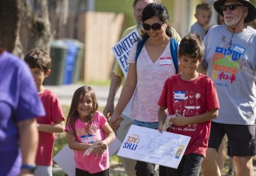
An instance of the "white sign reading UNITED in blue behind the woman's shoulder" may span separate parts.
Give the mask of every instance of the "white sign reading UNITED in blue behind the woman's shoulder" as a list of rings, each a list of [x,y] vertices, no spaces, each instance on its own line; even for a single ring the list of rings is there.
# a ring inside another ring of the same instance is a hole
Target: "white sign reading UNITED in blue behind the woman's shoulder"
[[[130,47],[141,39],[140,34],[138,34],[138,30],[134,29],[126,37],[122,38],[115,46],[112,47],[115,58],[118,60],[119,66],[122,69],[122,72],[125,76],[128,73],[128,54],[130,51]]]

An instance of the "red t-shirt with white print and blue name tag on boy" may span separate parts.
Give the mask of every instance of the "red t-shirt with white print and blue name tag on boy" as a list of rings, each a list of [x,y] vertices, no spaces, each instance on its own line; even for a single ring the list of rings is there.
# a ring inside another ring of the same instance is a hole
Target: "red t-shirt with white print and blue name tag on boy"
[[[158,105],[167,107],[169,114],[175,114],[178,111],[179,114],[188,118],[219,108],[214,82],[203,74],[199,74],[193,81],[182,80],[181,74],[175,74],[166,79]],[[172,125],[169,131],[191,137],[184,155],[206,156],[210,121],[186,126]]]

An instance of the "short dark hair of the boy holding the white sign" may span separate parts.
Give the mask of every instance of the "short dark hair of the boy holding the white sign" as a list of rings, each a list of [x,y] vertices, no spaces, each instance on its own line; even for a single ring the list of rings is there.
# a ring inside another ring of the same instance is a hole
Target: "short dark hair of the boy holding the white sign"
[[[205,52],[205,46],[198,34],[187,34],[178,46],[178,56],[189,58],[198,58],[202,61]]]

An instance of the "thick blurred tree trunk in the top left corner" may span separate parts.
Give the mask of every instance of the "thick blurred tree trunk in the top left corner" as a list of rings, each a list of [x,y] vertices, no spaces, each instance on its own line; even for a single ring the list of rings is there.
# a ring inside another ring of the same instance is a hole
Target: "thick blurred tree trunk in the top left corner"
[[[68,0],[50,0],[50,2],[55,2],[58,11],[67,9]],[[34,47],[50,51],[52,33],[47,0],[2,0],[0,22],[0,46],[7,51],[21,58]]]

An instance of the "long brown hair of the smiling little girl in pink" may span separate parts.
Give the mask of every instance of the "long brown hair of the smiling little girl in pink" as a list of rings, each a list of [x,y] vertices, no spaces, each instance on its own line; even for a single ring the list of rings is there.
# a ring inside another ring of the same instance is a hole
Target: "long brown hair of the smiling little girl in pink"
[[[97,102],[96,94],[94,93],[94,90],[90,86],[81,86],[77,90],[75,90],[73,98],[72,98],[71,106],[70,106],[70,112],[67,115],[66,126],[68,127],[68,129],[72,130],[72,135],[74,135],[76,140],[78,139],[78,136],[76,134],[74,124],[77,121],[78,115],[79,115],[78,110],[77,110],[78,103],[81,99],[81,96],[83,98],[83,96],[86,93],[90,94],[90,96],[92,98],[92,103],[93,103],[93,109],[89,115],[90,120],[92,120],[94,118],[94,114],[95,114],[96,110],[98,110],[98,102]]]

